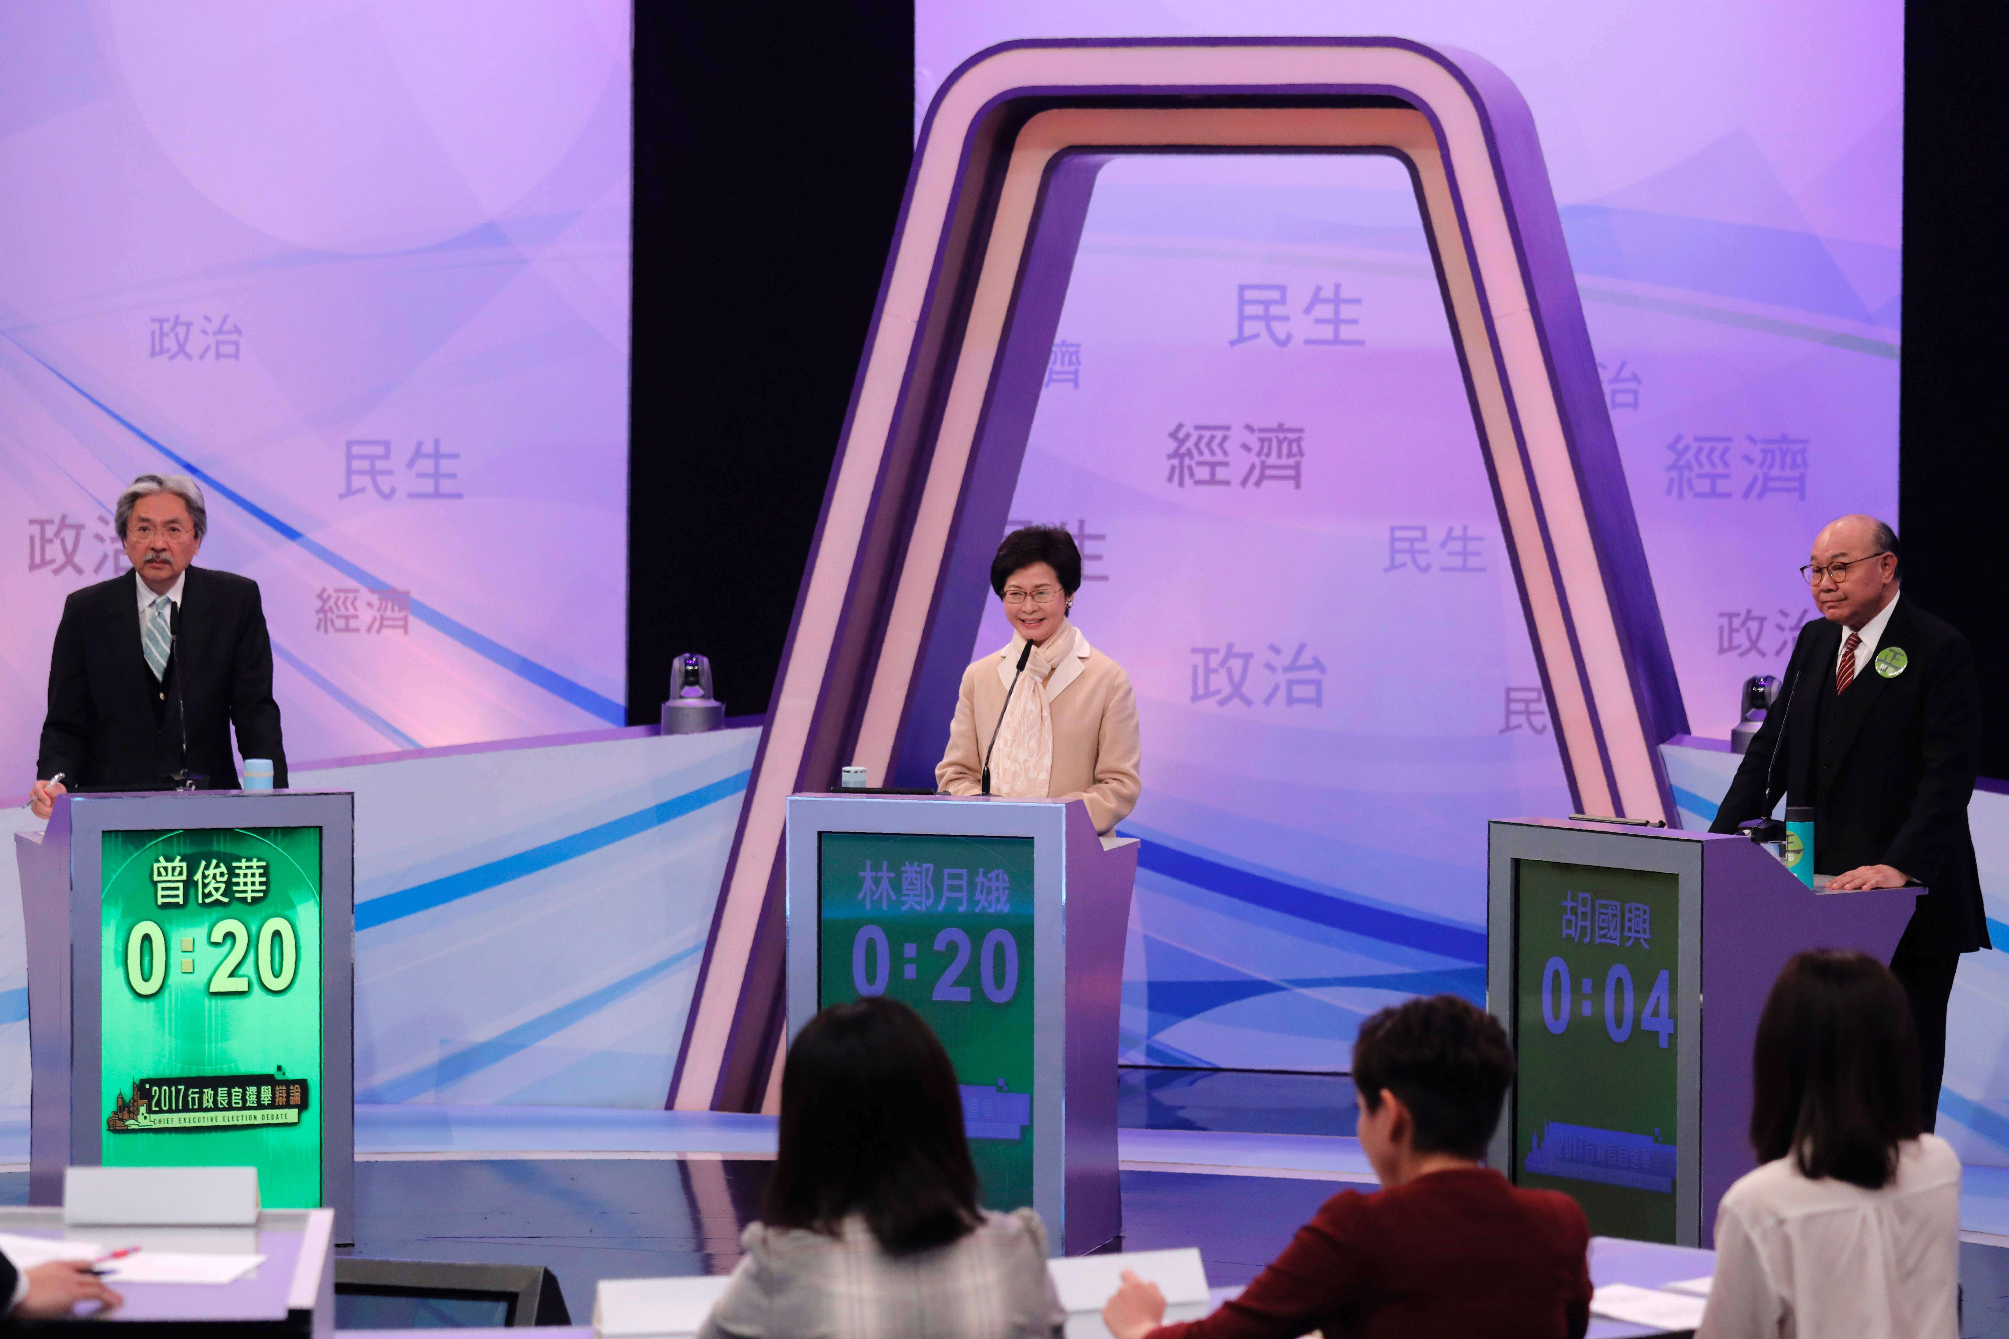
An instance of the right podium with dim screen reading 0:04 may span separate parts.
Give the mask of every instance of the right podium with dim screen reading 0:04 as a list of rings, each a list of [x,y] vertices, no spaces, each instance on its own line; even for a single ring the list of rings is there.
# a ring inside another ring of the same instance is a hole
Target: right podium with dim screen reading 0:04
[[[1708,1247],[1752,1170],[1752,1044],[1786,960],[1888,962],[1921,887],[1816,891],[1742,835],[1551,819],[1487,833],[1487,1008],[1519,1074],[1489,1162],[1599,1237]]]

